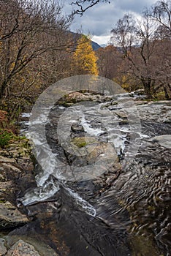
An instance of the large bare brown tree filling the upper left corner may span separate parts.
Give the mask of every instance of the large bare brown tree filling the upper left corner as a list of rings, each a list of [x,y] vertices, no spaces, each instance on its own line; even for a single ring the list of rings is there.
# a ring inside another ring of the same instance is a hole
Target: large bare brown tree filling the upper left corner
[[[0,17],[2,98],[29,63],[48,51],[69,48],[64,35],[70,19],[61,14],[60,4],[47,0],[1,1]]]

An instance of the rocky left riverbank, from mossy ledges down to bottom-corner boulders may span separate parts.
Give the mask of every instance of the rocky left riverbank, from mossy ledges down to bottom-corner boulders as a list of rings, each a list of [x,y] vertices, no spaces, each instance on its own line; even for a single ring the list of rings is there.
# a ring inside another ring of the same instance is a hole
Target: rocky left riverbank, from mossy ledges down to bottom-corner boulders
[[[0,255],[57,256],[47,244],[26,237],[10,236],[12,230],[33,220],[18,208],[17,197],[35,187],[34,157],[28,139],[10,140],[0,150]]]

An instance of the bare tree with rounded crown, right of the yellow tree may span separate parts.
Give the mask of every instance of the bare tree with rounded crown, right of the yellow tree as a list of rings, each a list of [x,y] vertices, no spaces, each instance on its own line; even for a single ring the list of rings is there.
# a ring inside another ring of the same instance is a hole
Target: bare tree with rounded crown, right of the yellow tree
[[[113,44],[123,52],[128,60],[128,73],[139,79],[148,97],[153,94],[155,74],[153,69],[153,51],[156,43],[153,22],[147,15],[137,20],[132,15],[124,15],[112,30]]]

